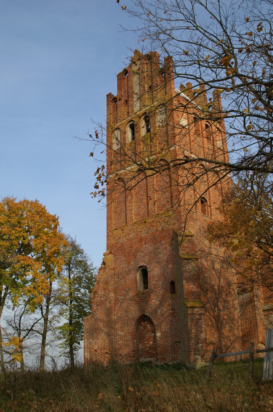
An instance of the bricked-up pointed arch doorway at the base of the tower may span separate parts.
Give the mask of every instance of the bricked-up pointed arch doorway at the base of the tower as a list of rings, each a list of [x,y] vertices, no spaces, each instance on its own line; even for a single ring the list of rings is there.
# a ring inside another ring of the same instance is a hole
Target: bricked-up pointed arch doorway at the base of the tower
[[[147,315],[142,315],[136,325],[136,349],[141,362],[156,362],[156,330]]]

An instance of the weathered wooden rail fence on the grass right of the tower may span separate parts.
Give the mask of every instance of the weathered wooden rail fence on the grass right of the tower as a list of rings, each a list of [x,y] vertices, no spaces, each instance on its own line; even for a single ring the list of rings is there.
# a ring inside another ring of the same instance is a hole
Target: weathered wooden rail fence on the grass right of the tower
[[[249,364],[248,364],[248,374],[250,377],[253,376],[253,361],[255,353],[265,353],[264,356],[264,369],[263,369],[263,379],[273,379],[273,329],[266,329],[266,345],[265,349],[257,349],[254,351],[254,343],[249,342],[249,349],[245,351],[229,352],[229,353],[219,353],[217,355],[217,348],[213,348],[211,359],[209,361],[209,367],[206,372],[206,377],[211,376],[213,363],[216,358],[224,358],[226,356],[238,356],[249,353]]]

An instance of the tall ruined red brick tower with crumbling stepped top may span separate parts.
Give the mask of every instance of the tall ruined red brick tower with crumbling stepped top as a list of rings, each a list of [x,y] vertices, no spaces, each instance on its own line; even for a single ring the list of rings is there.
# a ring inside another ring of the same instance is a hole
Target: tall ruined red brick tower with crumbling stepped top
[[[220,352],[247,347],[250,338],[264,342],[261,294],[238,291],[223,250],[205,239],[211,218],[221,218],[230,179],[213,185],[204,173],[195,182],[193,168],[169,167],[187,156],[227,161],[223,118],[209,124],[201,115],[220,105],[216,91],[208,103],[189,83],[175,89],[171,59],[161,66],[155,52],[136,50],[117,75],[117,96],[107,95],[107,252],[84,319],[85,364],[198,365],[213,346]],[[154,173],[159,164],[162,173]]]

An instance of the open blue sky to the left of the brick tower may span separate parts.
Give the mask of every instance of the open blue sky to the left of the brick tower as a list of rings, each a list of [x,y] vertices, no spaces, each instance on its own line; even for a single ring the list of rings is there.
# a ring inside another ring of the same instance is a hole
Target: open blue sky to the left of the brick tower
[[[126,3],[124,1],[124,3]],[[38,199],[77,235],[95,266],[106,248],[106,212],[91,199],[86,137],[106,119],[106,94],[137,38],[116,0],[2,0],[0,197]]]

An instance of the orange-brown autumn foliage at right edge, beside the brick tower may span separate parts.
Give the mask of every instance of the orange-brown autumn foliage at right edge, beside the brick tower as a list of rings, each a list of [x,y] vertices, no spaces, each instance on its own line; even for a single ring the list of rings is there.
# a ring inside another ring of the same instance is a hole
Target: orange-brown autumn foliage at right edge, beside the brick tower
[[[273,291],[273,203],[268,176],[241,176],[226,193],[224,220],[211,222],[210,241],[227,250],[227,259],[240,277]]]

